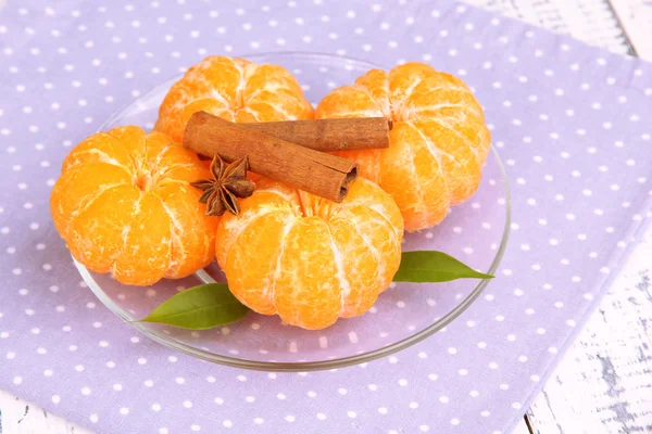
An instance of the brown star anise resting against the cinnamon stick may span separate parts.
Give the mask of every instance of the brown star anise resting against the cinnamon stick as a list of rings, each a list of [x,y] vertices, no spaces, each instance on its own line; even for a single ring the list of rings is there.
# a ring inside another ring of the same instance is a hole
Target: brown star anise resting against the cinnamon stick
[[[255,189],[255,184],[247,179],[247,156],[227,165],[215,154],[211,163],[213,179],[200,179],[190,183],[203,191],[199,202],[206,204],[206,216],[221,216],[226,210],[235,215],[240,214],[238,197],[249,197]]]

